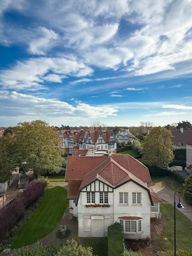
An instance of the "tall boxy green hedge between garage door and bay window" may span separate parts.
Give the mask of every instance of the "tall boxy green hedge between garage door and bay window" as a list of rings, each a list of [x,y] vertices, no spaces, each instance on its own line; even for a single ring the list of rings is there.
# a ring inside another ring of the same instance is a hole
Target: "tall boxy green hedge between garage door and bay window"
[[[108,227],[108,255],[117,256],[121,255],[123,251],[123,233],[119,223],[112,224]]]

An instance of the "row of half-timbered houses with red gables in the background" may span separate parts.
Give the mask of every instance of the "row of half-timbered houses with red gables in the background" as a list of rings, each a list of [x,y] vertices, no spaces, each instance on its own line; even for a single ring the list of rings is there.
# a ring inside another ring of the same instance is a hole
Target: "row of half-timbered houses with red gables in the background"
[[[61,130],[61,147],[68,153],[73,149],[110,150],[116,152],[117,140],[112,131],[102,131],[100,128],[94,131],[85,130]]]

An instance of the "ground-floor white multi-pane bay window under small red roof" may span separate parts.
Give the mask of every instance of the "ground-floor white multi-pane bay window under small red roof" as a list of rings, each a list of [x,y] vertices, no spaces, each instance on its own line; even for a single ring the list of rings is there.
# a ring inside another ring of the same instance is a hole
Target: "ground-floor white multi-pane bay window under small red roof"
[[[122,231],[126,233],[138,233],[142,231],[141,219],[135,221],[128,221],[120,219]]]

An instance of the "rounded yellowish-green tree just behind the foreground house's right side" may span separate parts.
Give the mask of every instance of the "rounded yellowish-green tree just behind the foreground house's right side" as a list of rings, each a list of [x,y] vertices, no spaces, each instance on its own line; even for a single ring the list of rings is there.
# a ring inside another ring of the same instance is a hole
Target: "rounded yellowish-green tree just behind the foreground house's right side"
[[[143,143],[145,164],[167,168],[169,162],[174,159],[171,136],[171,131],[160,126],[150,130]]]

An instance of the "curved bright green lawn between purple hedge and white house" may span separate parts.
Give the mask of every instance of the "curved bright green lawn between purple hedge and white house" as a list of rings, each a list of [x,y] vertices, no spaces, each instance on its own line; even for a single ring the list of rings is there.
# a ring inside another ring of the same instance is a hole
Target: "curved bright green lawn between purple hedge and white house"
[[[11,248],[29,245],[51,233],[61,221],[67,205],[67,191],[64,188],[48,188],[40,204],[13,237]]]

